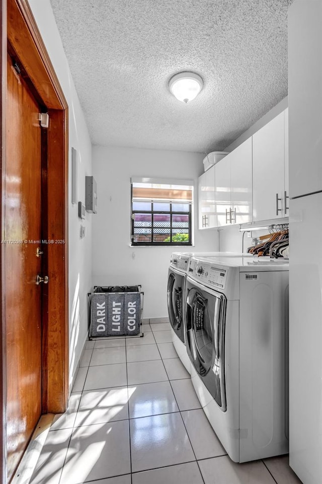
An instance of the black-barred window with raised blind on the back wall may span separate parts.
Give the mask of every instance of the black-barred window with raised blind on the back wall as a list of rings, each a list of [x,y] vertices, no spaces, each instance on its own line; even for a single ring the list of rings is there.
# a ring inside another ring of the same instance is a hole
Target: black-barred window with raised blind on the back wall
[[[193,182],[131,180],[132,246],[191,246]]]

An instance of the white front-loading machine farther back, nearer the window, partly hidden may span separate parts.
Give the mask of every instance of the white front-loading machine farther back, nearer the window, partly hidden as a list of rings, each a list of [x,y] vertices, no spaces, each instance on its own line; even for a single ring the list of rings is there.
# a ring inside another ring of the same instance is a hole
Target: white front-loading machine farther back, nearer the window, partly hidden
[[[172,331],[172,342],[183,365],[190,373],[190,359],[185,340],[185,282],[191,257],[240,257],[234,252],[173,252],[168,272],[168,313]],[[247,255],[245,255],[247,257]]]

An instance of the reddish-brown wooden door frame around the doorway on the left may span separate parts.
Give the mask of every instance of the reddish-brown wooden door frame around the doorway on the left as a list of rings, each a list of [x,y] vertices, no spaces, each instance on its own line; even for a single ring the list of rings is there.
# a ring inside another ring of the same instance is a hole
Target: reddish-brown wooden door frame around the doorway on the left
[[[2,184],[2,235],[4,233],[4,179],[6,176],[6,59],[7,39],[19,62],[48,109],[48,193],[45,205],[44,235],[47,240],[64,240],[64,244],[48,244],[48,304],[43,310],[42,348],[42,412],[64,412],[68,399],[68,105],[51,64],[45,44],[27,0],[0,0],[1,116],[0,170]],[[47,235],[46,235],[47,234]],[[1,246],[1,330],[2,382],[0,417],[2,466],[0,482],[6,482],[6,314],[5,314],[5,244]],[[1,475],[2,474],[2,475]]]

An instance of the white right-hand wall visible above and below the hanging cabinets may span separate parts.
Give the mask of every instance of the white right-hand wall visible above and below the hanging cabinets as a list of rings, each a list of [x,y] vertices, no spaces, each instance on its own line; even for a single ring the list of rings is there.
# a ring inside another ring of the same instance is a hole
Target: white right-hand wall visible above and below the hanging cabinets
[[[274,119],[274,117],[284,111],[284,109],[287,108],[287,103],[288,100],[287,97],[285,97],[270,111],[264,114],[264,116],[262,116],[256,123],[254,123],[253,126],[236,138],[235,141],[224,149],[224,151],[228,151],[230,153],[241,143],[244,143],[244,141],[254,135],[254,133],[256,133],[259,129],[263,128],[263,126]],[[246,233],[244,235],[243,243],[243,232],[239,232],[239,225],[221,227],[219,229],[219,250],[221,252],[242,252],[244,248],[244,252],[246,252],[246,249],[252,246],[252,237],[257,237],[259,235],[263,235],[264,233],[266,232],[253,231],[251,233],[251,238],[249,238]]]

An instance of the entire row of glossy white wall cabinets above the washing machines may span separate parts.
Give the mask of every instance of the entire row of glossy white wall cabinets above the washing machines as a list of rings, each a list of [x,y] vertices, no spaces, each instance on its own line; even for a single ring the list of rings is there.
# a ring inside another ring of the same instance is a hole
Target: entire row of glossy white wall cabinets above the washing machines
[[[287,217],[288,109],[199,177],[199,228]]]

